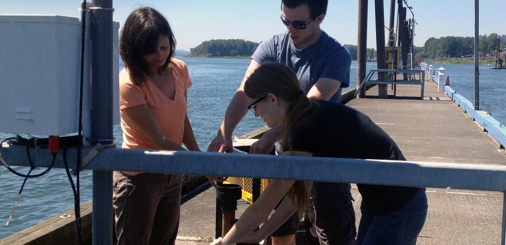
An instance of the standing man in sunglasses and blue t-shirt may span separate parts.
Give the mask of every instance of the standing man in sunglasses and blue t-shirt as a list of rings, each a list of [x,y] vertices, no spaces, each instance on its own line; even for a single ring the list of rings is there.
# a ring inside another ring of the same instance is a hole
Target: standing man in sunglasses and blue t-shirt
[[[232,152],[232,133],[245,116],[251,103],[244,94],[244,82],[265,61],[285,64],[294,72],[304,93],[314,100],[341,103],[343,87],[350,83],[351,56],[337,40],[321,28],[325,18],[328,0],[282,0],[281,21],[286,32],[264,41],[251,57],[241,85],[230,102],[218,135],[209,144],[209,152]],[[281,126],[269,129],[254,144],[249,153],[269,154],[274,143],[281,139]],[[313,199],[316,213],[316,226],[321,244],[353,244],[355,242],[355,212],[351,203],[349,183],[314,182],[316,198]],[[273,230],[273,244],[295,244],[298,220],[285,199],[273,216],[256,234],[268,236],[265,230]],[[289,225],[291,223],[291,226]],[[287,228],[288,227],[288,228]],[[252,239],[250,237],[250,239]],[[252,241],[252,240],[247,240]]]

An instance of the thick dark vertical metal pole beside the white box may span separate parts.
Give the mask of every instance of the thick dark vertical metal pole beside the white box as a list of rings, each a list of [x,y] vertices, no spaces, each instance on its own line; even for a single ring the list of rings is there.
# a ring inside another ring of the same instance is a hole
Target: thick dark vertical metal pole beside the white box
[[[92,145],[111,144],[112,0],[92,2]],[[112,244],[112,172],[93,171],[93,244]]]

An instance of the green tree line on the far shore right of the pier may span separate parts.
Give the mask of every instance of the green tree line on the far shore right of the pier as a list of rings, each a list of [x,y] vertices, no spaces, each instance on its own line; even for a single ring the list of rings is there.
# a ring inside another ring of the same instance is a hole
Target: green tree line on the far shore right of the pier
[[[495,52],[497,33],[479,36],[479,51],[483,54]],[[500,35],[500,47],[506,47],[506,36]],[[424,47],[415,48],[416,56],[420,59],[440,59],[463,57],[474,54],[474,37],[446,36],[429,38]]]

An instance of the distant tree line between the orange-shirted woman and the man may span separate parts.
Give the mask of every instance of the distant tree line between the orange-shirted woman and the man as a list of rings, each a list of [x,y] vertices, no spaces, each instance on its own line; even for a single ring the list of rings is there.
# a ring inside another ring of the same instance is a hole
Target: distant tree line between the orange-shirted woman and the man
[[[243,39],[213,39],[190,48],[190,56],[251,56],[259,44]]]

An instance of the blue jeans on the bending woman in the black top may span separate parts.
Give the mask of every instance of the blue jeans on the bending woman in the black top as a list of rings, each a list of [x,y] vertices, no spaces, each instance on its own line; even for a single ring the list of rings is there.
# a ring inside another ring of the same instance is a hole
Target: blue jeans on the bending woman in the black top
[[[357,245],[412,245],[424,227],[427,217],[427,195],[420,188],[401,209],[386,215],[371,214],[362,203]]]

